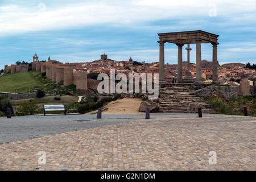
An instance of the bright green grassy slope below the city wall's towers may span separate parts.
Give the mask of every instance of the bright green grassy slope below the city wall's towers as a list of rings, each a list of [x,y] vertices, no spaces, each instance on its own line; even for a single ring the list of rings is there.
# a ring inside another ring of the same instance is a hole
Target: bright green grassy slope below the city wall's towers
[[[51,81],[44,79],[41,72],[7,73],[0,77],[0,92],[27,93],[49,83]]]

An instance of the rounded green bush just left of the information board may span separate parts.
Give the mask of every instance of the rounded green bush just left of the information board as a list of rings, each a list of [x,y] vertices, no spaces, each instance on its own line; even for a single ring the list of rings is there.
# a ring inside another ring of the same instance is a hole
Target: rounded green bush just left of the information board
[[[36,105],[34,100],[22,102],[17,109],[17,115],[33,115],[39,113],[39,106]]]

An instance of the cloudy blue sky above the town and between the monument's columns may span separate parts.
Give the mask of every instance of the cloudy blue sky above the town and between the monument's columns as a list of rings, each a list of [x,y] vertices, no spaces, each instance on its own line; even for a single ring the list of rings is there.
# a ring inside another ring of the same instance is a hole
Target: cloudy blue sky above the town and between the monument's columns
[[[39,60],[63,63],[103,53],[151,63],[159,61],[158,33],[191,30],[220,35],[220,64],[256,63],[255,17],[255,0],[0,0],[0,69],[31,62],[35,52]],[[177,46],[164,48],[166,63],[177,64]],[[195,63],[195,44],[191,48]],[[211,44],[202,44],[202,59],[212,61]]]

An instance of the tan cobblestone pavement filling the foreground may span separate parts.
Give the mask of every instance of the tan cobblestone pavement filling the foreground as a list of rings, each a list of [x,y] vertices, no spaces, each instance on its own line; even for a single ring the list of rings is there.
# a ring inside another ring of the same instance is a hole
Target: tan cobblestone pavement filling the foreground
[[[255,117],[137,119],[0,144],[0,170],[255,170]],[[46,164],[39,165],[39,151]],[[217,164],[210,165],[210,151]]]

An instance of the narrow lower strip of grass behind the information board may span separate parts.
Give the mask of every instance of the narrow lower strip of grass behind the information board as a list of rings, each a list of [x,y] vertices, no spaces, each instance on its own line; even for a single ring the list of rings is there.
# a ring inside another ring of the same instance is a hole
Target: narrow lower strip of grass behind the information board
[[[32,99],[28,98],[28,99],[23,99],[23,100],[13,100],[10,102],[11,102],[11,105],[18,106],[23,101],[34,100],[36,102],[36,104],[42,106],[42,105],[47,105],[47,104],[70,104],[70,103],[77,102],[79,100],[79,97],[76,97],[76,96],[61,96],[60,97],[61,100],[59,100],[59,101],[54,100],[54,97],[56,97],[56,96],[46,96],[46,97],[42,97],[42,98],[32,98]]]

